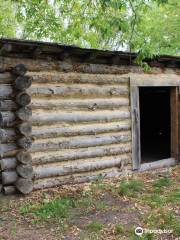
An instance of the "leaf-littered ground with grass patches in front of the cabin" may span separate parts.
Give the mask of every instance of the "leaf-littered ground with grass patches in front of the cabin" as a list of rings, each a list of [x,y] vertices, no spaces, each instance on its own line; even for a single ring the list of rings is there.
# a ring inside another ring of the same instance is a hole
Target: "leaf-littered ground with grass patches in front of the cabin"
[[[0,240],[179,240],[180,167],[1,196],[0,206]]]

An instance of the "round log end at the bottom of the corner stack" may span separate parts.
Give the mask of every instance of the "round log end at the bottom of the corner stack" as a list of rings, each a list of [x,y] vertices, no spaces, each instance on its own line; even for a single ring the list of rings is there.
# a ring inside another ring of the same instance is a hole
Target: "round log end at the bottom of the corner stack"
[[[15,186],[21,193],[28,194],[33,190],[33,181],[30,179],[18,178]]]

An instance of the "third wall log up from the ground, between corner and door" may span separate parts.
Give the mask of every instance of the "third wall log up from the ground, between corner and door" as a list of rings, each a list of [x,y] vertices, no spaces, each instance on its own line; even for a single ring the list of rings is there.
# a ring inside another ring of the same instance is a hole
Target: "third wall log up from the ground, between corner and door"
[[[41,165],[46,163],[53,162],[63,162],[63,161],[72,161],[78,159],[94,158],[94,157],[104,157],[104,156],[114,156],[123,153],[130,153],[131,144],[122,143],[114,145],[105,145],[98,147],[88,147],[82,149],[68,149],[68,150],[59,150],[57,152],[38,152],[32,154],[33,165]]]

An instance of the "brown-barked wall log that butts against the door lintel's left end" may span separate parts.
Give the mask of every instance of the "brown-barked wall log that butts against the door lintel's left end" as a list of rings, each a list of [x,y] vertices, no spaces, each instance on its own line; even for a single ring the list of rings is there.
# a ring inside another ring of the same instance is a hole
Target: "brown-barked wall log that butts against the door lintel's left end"
[[[108,66],[107,66],[108,67]],[[121,67],[120,67],[121,68]],[[110,73],[110,72],[109,72]],[[86,74],[86,73],[61,73],[61,72],[31,72],[35,83],[90,83],[90,84],[124,84],[129,82],[128,75],[114,74]]]

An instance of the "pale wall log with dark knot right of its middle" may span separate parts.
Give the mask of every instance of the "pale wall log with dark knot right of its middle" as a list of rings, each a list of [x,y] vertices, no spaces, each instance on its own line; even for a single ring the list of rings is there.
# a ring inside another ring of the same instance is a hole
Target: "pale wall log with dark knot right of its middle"
[[[33,98],[32,109],[115,109],[121,106],[129,106],[129,98],[95,98],[95,99],[47,99]]]

